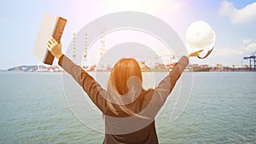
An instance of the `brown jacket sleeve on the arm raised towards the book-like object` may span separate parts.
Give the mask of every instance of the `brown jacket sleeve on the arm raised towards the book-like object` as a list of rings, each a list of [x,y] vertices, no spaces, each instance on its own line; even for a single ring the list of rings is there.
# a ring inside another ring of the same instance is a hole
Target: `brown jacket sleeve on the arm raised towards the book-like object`
[[[107,94],[106,90],[102,89],[101,85],[96,83],[94,78],[85,72],[81,66],[74,64],[66,55],[61,55],[58,64],[82,86],[87,95],[89,95],[90,100],[103,112],[105,99],[102,95]]]

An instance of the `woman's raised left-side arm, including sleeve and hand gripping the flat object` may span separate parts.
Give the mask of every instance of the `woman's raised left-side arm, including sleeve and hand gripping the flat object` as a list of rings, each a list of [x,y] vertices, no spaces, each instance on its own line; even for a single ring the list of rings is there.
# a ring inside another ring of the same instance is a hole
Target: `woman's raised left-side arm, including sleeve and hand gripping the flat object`
[[[93,101],[96,104],[96,107],[103,112],[105,99],[102,95],[106,94],[105,89],[102,89],[101,85],[96,83],[96,80],[85,72],[81,66],[74,64],[66,55],[63,55],[61,51],[61,43],[57,43],[55,39],[51,37],[47,45],[49,52],[59,59],[58,64],[82,86],[84,91],[89,95],[91,101]]]

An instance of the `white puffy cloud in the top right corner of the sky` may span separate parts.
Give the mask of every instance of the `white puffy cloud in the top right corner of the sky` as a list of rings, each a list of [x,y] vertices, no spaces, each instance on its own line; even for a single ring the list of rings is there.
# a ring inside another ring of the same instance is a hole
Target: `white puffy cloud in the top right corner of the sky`
[[[236,9],[233,3],[224,0],[221,2],[218,14],[230,17],[232,23],[248,23],[256,21],[256,2],[248,4],[242,9]]]

